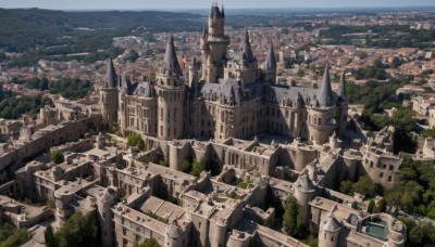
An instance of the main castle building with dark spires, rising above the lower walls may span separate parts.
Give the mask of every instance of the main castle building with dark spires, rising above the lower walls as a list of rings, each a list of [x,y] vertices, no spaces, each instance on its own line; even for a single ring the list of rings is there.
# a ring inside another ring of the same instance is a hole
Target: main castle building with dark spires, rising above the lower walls
[[[201,61],[192,62],[187,82],[172,36],[156,81],[132,82],[109,61],[100,89],[103,122],[117,122],[123,134],[165,141],[246,140],[269,133],[324,144],[334,131],[343,135],[348,120],[344,77],[338,93],[332,90],[327,65],[319,89],[277,84],[272,43],[260,67],[246,30],[229,56],[224,24],[224,10],[214,4],[201,37]]]

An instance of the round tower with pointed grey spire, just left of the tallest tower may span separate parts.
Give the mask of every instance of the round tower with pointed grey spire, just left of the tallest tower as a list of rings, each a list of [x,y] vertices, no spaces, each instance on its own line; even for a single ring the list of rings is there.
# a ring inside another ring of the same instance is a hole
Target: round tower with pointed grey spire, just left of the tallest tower
[[[156,81],[158,136],[162,140],[170,141],[183,136],[185,90],[183,70],[175,53],[174,37],[171,35]]]

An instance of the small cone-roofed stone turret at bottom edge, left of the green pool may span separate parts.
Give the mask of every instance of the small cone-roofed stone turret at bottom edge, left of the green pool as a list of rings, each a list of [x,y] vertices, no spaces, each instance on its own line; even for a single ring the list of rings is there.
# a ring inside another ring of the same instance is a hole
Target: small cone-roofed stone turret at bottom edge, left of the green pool
[[[335,218],[334,213],[330,213],[320,224],[319,230],[319,247],[338,246],[338,236],[341,224]]]

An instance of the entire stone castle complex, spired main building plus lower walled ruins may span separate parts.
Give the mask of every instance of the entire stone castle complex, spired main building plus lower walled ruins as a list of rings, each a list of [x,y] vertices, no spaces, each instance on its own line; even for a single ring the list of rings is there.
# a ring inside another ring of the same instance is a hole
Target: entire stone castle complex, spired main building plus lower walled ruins
[[[24,246],[44,246],[40,223],[54,218],[60,227],[77,210],[96,212],[102,246],[149,238],[174,247],[307,246],[279,225],[290,195],[321,247],[406,245],[405,224],[334,190],[364,174],[397,185],[394,128],[370,132],[348,119],[345,78],[334,93],[328,66],[319,89],[278,84],[272,44],[259,67],[247,31],[229,57],[224,22],[213,4],[201,62],[186,77],[170,37],[156,81],[133,82],[109,61],[99,99],[54,96],[55,107],[36,120],[0,121],[10,140],[0,144],[0,194],[54,202],[51,210],[0,196],[0,222],[35,232]],[[139,133],[147,150],[98,133],[113,122],[123,135]],[[291,142],[262,143],[260,135]],[[65,160],[35,158],[49,150]],[[211,171],[182,172],[186,158],[207,159]]]

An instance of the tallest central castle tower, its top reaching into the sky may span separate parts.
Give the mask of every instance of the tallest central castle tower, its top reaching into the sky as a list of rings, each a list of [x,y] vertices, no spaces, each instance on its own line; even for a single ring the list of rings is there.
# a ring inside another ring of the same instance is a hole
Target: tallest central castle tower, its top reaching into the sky
[[[209,16],[209,31],[201,38],[202,79],[207,82],[217,82],[224,75],[226,50],[229,37],[225,36],[225,11],[213,2]]]

